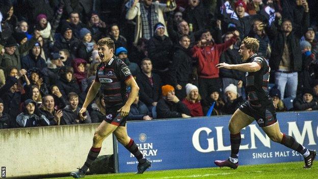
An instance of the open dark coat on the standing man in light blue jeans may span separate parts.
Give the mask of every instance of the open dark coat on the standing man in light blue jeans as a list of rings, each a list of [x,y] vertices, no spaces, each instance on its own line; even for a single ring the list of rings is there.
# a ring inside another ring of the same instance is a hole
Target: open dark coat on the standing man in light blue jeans
[[[272,43],[272,54],[270,58],[270,67],[272,70],[278,70],[279,64],[282,60],[284,44],[286,42],[289,54],[290,54],[290,70],[292,71],[300,71],[302,69],[302,57],[301,57],[301,49],[299,40],[307,31],[309,27],[309,13],[304,13],[304,19],[302,21],[302,27],[296,28],[293,27],[293,31],[286,37],[285,33],[279,31],[279,27],[276,27],[275,24],[272,25],[270,29],[268,29],[268,36]]]

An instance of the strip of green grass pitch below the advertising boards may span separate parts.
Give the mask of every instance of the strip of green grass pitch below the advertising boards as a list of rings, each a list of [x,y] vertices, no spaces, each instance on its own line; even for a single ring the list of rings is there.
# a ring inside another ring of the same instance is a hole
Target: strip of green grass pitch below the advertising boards
[[[147,179],[178,179],[178,178],[318,178],[318,161],[310,169],[303,169],[303,162],[278,164],[245,165],[233,170],[223,168],[194,168],[180,170],[146,171],[144,174],[114,173],[86,175],[85,178],[147,178]],[[61,177],[72,178],[72,177]]]

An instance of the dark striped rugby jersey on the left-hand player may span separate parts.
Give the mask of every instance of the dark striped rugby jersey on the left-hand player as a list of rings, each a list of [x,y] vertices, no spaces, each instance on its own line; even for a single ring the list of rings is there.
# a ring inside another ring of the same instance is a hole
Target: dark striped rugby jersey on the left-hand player
[[[106,108],[122,107],[127,101],[127,86],[125,82],[133,78],[128,66],[118,57],[106,64],[100,63],[96,69],[95,82],[101,83],[100,90],[103,93]]]

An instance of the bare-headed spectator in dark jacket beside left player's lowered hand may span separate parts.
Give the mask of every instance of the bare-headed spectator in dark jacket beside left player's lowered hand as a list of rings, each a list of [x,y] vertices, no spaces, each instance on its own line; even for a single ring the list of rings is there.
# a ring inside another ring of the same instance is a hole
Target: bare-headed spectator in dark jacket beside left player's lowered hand
[[[80,115],[81,108],[78,107],[78,95],[74,92],[70,92],[67,97],[69,105],[63,109],[61,125],[92,123],[88,111],[83,113],[83,115]]]

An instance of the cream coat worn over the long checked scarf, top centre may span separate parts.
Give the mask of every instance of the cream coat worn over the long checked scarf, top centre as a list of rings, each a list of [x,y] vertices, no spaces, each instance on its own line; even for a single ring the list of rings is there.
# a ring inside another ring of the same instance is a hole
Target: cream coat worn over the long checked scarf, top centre
[[[142,28],[141,11],[140,11],[140,4],[141,3],[137,3],[134,8],[131,8],[133,3],[134,3],[134,1],[130,0],[125,5],[125,7],[128,9],[128,11],[126,13],[126,19],[133,20],[136,17],[134,44],[137,45],[138,40],[143,37],[142,36],[143,35],[143,33],[142,33],[143,28]],[[151,4],[151,6],[154,6],[154,8],[155,8],[155,13],[157,14],[158,22],[163,23],[166,27],[166,22],[164,19],[164,12],[173,11],[173,10],[175,10],[176,6],[174,8],[169,8],[169,7],[167,7],[167,4],[161,4],[157,1],[153,2]],[[168,36],[167,31],[165,31],[165,35]]]

